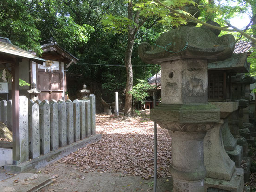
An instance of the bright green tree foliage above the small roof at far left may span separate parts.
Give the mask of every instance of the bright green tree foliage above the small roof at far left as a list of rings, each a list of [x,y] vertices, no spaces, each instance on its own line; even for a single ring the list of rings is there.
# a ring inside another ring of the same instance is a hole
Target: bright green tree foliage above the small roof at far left
[[[22,49],[42,53],[40,31],[35,25],[29,0],[3,0],[0,7],[0,36],[11,39]]]

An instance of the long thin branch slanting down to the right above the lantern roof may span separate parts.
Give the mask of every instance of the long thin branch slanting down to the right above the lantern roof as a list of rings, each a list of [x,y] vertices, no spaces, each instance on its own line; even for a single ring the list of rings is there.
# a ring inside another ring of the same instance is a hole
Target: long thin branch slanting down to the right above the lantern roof
[[[234,27],[234,26],[232,26],[232,25],[230,25],[230,24],[228,24],[228,25],[229,25],[230,27],[232,27],[233,29],[227,29],[227,28],[224,28],[224,27],[213,26],[213,25],[211,25],[211,24],[208,24],[208,23],[205,23],[205,22],[203,22],[203,21],[200,21],[199,19],[196,19],[196,18],[194,18],[194,17],[192,17],[192,16],[190,16],[190,15],[186,15],[186,14],[184,14],[184,13],[180,13],[180,12],[178,12],[177,10],[175,10],[175,9],[173,9],[173,8],[171,8],[171,7],[169,7],[169,6],[166,6],[165,4],[161,3],[159,0],[154,0],[154,2],[156,2],[156,3],[158,3],[159,5],[165,7],[166,9],[169,9],[171,13],[178,14],[178,15],[180,15],[180,16],[182,16],[182,17],[185,17],[186,19],[190,19],[190,20],[195,21],[195,22],[197,22],[197,23],[201,23],[202,25],[211,27],[211,28],[213,28],[213,29],[218,29],[218,30],[223,30],[223,31],[229,31],[229,32],[239,32],[239,33],[242,34],[244,37],[249,38],[252,42],[256,43],[256,38],[250,36],[249,34],[243,32],[242,30],[240,30],[240,29],[238,29],[238,28],[236,28],[236,27]]]

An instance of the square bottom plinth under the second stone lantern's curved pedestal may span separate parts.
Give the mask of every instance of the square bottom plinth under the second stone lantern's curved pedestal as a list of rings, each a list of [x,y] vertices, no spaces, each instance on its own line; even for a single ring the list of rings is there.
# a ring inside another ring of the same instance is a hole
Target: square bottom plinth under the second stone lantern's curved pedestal
[[[216,192],[243,192],[244,180],[243,180],[243,169],[236,168],[234,174],[230,181],[225,181],[221,179],[205,178],[205,192],[209,190],[216,189]]]

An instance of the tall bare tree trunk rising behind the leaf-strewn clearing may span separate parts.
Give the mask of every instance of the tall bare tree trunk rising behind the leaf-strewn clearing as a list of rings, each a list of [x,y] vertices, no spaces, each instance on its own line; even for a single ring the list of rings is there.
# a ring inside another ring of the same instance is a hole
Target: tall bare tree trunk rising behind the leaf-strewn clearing
[[[128,34],[127,48],[125,52],[125,68],[126,68],[126,91],[125,91],[125,106],[124,116],[131,116],[132,109],[132,94],[129,91],[133,88],[133,68],[132,68],[132,51],[135,39],[135,32]]]

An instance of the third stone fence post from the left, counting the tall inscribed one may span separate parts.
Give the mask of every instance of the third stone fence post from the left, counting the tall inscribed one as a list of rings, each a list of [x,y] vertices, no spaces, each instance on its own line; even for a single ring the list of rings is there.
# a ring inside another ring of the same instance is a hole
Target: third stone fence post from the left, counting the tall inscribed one
[[[50,106],[48,100],[44,100],[40,103],[39,111],[41,138],[40,154],[48,154],[50,152]]]

